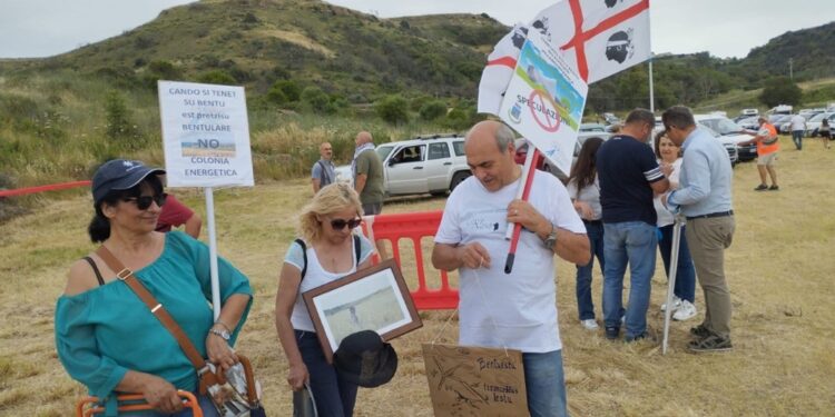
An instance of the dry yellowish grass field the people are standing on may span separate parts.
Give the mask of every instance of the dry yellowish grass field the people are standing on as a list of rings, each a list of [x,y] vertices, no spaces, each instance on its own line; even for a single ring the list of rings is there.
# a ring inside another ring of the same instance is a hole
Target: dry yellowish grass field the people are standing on
[[[835,149],[807,140],[795,151],[782,139],[780,191],[755,192],[756,167],[735,169],[737,231],[726,252],[734,305],[727,354],[692,355],[688,328],[674,322],[670,350],[661,355],[666,294],[657,269],[649,324],[658,341],[606,340],[577,320],[574,267],[558,265],[558,307],[569,408],[573,416],[832,416],[835,415]],[[216,192],[219,254],[246,272],[255,304],[238,349],[246,353],[265,387],[271,416],[289,416],[286,361],[273,326],[279,262],[294,236],[294,215],[310,197],[308,181],[258,185]],[[183,193],[202,208],[202,193]],[[385,212],[439,209],[442,198],[386,205]],[[53,307],[75,259],[92,249],[86,237],[90,198],[45,200],[31,215],[1,226],[0,415],[70,416],[84,388],[56,358]],[[205,236],[205,232],[204,232]],[[429,242],[425,244],[429,248]],[[413,280],[404,261],[406,278]],[[411,278],[410,278],[411,277]],[[595,301],[600,317],[600,275]],[[699,318],[704,299],[697,290]],[[424,326],[396,339],[395,378],[361,389],[357,416],[431,416],[421,344],[454,342],[452,311],[422,311]],[[141,337],[141,335],[137,335]]]

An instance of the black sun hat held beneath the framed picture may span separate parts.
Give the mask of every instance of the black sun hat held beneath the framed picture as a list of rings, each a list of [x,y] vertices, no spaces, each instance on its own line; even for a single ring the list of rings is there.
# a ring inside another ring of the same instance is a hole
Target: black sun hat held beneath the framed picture
[[[397,370],[397,354],[374,330],[357,331],[342,339],[333,361],[340,376],[365,388],[392,380]]]

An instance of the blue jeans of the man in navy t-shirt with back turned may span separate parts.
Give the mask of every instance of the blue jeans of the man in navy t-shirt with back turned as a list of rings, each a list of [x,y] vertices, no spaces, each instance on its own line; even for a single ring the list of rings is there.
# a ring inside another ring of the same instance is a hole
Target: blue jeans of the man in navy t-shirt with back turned
[[[626,337],[647,330],[650,280],[656,271],[655,225],[623,221],[603,225],[603,317],[606,327],[620,328],[626,312]],[[629,304],[623,309],[623,275],[629,264]]]

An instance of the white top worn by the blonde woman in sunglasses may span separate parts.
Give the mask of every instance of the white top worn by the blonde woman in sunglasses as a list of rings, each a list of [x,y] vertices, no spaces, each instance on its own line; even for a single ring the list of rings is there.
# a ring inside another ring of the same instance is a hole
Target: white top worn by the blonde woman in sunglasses
[[[316,250],[307,244],[307,271],[302,277],[302,282],[298,286],[298,295],[296,296],[296,304],[293,306],[293,315],[289,317],[289,322],[293,324],[293,328],[296,330],[316,331],[313,327],[313,320],[311,315],[307,312],[307,307],[302,298],[302,292],[310,291],[316,287],[323,286],[327,282],[335,281],[346,275],[356,272],[357,265],[366,261],[369,257],[374,252],[374,248],[371,241],[364,236],[360,236],[360,261],[356,261],[354,248],[354,239],[351,239],[351,258],[354,260],[354,266],[351,270],[345,272],[331,272],[322,267],[322,264],[316,257]],[[287,254],[284,257],[284,262],[296,267],[299,271],[304,267],[304,256],[302,254],[302,247],[297,242],[293,242],[287,248]]]

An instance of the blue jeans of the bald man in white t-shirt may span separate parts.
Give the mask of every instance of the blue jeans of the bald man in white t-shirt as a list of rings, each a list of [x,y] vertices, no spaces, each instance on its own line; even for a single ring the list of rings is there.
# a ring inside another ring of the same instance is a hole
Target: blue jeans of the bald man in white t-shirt
[[[522,354],[522,364],[531,417],[568,416],[562,350]]]

